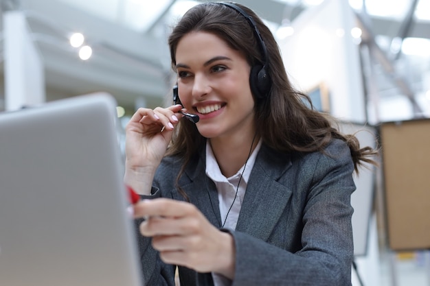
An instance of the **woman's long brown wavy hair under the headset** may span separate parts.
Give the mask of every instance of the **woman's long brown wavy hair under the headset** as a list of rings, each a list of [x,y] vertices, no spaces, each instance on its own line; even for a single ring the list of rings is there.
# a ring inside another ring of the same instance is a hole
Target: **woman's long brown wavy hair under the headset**
[[[307,95],[295,90],[288,80],[278,43],[269,28],[249,8],[242,8],[256,22],[267,47],[267,71],[271,76],[271,90],[266,99],[254,96],[255,126],[262,142],[278,152],[324,152],[332,139],[341,139],[350,147],[354,169],[372,163],[377,152],[371,147],[360,148],[358,139],[352,134],[342,134],[330,115],[308,108],[302,99],[310,103]],[[260,44],[247,19],[237,11],[218,3],[201,3],[184,14],[172,30],[168,39],[172,69],[176,71],[176,50],[179,41],[190,32],[209,32],[225,40],[225,43],[240,51],[251,67],[262,63]],[[183,166],[178,180],[193,156],[205,145],[205,138],[196,125],[181,120],[166,155],[180,155]]]

